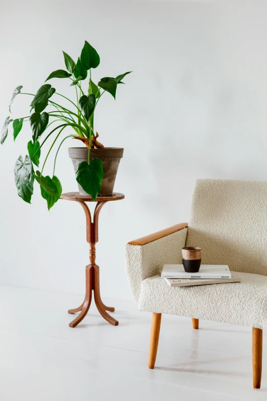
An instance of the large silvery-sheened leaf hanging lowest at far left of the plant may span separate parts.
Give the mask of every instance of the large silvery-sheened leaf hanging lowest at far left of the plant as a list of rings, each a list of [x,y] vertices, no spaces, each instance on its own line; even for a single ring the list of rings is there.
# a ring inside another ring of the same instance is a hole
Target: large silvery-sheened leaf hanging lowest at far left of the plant
[[[23,160],[22,155],[19,156],[15,164],[14,173],[18,196],[25,202],[31,203],[34,171],[32,161],[28,155],[25,156],[25,160]]]

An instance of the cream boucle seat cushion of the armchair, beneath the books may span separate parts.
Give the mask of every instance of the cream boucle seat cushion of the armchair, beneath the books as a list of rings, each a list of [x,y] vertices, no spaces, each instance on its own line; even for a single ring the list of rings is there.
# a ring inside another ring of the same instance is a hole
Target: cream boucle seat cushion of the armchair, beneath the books
[[[159,275],[141,283],[140,310],[267,329],[267,277],[234,272],[240,283],[169,287]]]

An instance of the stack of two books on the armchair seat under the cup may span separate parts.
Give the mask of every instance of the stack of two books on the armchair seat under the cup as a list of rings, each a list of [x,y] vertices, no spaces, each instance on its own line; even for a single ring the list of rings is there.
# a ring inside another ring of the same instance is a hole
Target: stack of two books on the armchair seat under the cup
[[[161,277],[170,287],[240,281],[233,277],[227,265],[201,265],[197,273],[186,272],[183,265],[164,265]]]

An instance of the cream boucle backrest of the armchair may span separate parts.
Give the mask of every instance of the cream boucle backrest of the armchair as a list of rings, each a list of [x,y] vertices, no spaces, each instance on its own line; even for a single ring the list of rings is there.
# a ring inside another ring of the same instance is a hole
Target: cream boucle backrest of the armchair
[[[197,180],[186,245],[203,264],[267,276],[267,182]]]

